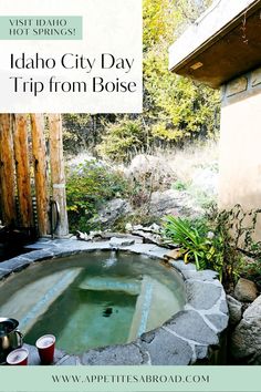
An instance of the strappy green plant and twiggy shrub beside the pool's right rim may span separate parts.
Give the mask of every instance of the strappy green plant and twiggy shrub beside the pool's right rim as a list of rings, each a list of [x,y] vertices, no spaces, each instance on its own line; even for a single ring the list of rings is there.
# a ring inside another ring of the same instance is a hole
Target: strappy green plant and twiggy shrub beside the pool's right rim
[[[253,239],[260,213],[246,213],[236,205],[230,210],[213,208],[199,221],[167,216],[165,236],[181,246],[186,262],[195,261],[197,269],[216,270],[229,288],[247,270],[242,268],[243,255],[261,260],[261,241]]]

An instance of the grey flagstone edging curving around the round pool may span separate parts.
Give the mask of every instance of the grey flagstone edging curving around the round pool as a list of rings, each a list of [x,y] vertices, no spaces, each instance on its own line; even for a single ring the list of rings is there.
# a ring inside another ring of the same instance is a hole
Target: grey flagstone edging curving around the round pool
[[[109,241],[86,243],[76,239],[40,239],[29,248],[38,249],[0,264],[0,280],[33,262],[65,257],[83,251],[111,250]],[[123,251],[163,259],[169,250],[152,244],[118,246]],[[72,365],[187,365],[222,362],[222,341],[228,326],[228,306],[218,275],[196,271],[195,265],[169,261],[184,278],[187,302],[160,328],[144,333],[133,343],[88,350],[81,357],[56,350],[55,364]],[[33,347],[29,347],[38,358]],[[38,359],[31,364],[36,364]]]

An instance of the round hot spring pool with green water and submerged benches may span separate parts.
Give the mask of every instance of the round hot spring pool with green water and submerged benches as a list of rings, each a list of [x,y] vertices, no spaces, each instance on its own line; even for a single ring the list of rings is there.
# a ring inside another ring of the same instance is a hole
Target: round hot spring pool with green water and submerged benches
[[[33,264],[0,282],[0,314],[19,320],[24,341],[52,333],[70,354],[132,342],[184,305],[184,281],[173,268],[128,252]]]

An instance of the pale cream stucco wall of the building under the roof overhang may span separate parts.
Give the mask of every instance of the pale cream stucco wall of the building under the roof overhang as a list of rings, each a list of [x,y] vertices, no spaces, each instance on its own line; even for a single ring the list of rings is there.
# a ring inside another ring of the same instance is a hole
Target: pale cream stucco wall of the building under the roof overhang
[[[261,207],[261,69],[223,86],[219,207]],[[261,220],[261,219],[260,219]],[[261,239],[261,221],[259,221]]]

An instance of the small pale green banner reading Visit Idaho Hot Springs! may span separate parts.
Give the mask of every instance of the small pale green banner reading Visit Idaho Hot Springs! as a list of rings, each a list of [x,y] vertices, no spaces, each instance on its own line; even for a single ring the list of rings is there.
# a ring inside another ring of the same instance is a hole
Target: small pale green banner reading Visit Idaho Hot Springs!
[[[0,40],[82,40],[82,17],[0,17]]]

